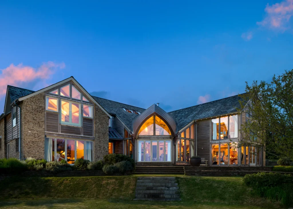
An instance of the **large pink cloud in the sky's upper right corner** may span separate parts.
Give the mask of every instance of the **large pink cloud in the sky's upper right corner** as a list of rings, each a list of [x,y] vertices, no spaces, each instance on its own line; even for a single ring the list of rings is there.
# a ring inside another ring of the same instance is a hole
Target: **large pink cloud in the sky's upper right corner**
[[[293,15],[293,0],[285,0],[272,6],[267,4],[265,12],[265,18],[256,24],[284,32],[289,29],[289,20]]]

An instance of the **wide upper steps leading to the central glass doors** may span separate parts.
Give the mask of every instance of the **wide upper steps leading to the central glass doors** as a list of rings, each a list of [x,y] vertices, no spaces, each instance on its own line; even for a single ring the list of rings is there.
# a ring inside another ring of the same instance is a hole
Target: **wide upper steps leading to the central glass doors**
[[[184,175],[183,166],[136,166],[132,174]]]

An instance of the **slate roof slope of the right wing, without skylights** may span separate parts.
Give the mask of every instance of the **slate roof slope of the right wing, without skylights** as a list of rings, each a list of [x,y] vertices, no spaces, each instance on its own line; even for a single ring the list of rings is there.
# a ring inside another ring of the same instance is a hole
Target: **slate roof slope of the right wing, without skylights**
[[[238,112],[237,108],[240,108],[239,100],[241,100],[241,97],[235,95],[200,105],[175,110],[169,112],[168,114],[174,118],[176,121],[177,130],[180,130],[188,125],[188,123],[190,123],[192,120],[212,118],[214,116]]]

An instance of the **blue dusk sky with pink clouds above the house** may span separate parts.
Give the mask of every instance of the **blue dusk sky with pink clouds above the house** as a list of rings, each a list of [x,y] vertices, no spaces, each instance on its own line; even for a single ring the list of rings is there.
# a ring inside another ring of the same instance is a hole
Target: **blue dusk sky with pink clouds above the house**
[[[74,76],[96,96],[166,111],[292,69],[293,1],[1,1],[0,104],[7,84]]]

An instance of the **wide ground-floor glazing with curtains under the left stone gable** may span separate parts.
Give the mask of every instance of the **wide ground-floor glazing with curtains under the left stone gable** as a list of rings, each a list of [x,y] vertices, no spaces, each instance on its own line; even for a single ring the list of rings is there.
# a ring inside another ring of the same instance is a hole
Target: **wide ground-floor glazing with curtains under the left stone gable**
[[[45,139],[45,160],[66,160],[74,164],[76,159],[93,160],[93,141],[76,139]]]

